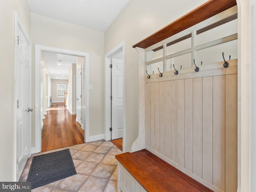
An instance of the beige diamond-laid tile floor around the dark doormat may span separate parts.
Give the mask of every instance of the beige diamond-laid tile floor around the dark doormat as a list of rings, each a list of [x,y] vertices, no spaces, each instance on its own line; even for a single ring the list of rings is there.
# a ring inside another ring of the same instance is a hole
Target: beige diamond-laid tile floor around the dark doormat
[[[112,142],[99,140],[38,154],[33,154],[25,166],[20,181],[26,181],[33,156],[69,148],[76,175],[33,189],[32,192],[116,192],[117,160],[122,153]]]

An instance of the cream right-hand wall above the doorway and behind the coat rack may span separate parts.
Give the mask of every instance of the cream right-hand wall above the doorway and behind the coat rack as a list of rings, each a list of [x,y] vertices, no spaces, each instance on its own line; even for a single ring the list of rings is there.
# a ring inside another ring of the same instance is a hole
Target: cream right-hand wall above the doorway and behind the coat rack
[[[130,0],[104,33],[105,54],[126,41],[126,151],[138,136],[138,54],[132,46],[206,1]]]

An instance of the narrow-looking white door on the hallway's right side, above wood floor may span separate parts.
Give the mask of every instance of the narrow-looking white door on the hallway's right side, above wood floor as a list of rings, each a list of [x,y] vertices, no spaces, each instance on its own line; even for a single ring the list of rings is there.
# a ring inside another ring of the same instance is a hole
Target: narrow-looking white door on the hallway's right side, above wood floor
[[[82,125],[82,68],[76,74],[76,121]]]

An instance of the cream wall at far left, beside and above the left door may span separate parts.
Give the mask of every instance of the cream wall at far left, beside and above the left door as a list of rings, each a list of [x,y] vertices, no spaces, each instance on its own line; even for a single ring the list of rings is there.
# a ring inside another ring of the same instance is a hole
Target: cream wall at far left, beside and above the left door
[[[0,181],[14,181],[14,11],[30,37],[26,0],[1,1],[0,6]]]

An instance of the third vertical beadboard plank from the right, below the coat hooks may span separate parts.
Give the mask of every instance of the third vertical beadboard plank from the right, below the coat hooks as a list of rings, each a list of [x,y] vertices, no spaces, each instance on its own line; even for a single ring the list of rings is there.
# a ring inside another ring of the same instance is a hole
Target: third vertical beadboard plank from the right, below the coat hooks
[[[202,178],[212,184],[212,76],[202,78]]]

